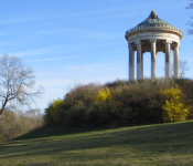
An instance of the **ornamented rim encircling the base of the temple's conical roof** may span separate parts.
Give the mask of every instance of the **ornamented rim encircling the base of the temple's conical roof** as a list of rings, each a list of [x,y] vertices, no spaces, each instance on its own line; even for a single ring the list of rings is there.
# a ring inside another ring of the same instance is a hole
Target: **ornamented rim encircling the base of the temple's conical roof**
[[[129,30],[126,31],[127,33],[130,33],[131,31],[136,31],[136,30],[141,30],[141,29],[147,29],[147,28],[154,28],[154,29],[169,29],[169,30],[174,30],[178,32],[182,33],[182,30],[174,27],[174,25],[169,25],[169,24],[161,24],[161,23],[149,23],[149,24],[144,24],[144,25],[138,25],[138,27],[133,27]],[[182,33],[183,34],[183,33]]]

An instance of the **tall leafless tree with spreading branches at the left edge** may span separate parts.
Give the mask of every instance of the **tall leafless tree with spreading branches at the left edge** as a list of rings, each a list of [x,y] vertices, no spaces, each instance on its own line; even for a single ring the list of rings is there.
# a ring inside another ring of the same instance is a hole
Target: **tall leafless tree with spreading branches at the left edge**
[[[17,56],[0,58],[0,115],[8,107],[30,106],[35,97],[41,97],[44,87],[35,89],[35,76]]]

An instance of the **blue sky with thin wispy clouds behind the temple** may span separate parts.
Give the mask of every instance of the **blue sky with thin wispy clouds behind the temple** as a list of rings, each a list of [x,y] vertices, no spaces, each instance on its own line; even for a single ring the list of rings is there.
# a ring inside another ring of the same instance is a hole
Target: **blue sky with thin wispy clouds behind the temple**
[[[180,59],[193,77],[193,35],[187,25],[193,10],[189,0],[1,0],[0,54],[17,55],[34,69],[45,94],[32,105],[42,111],[76,84],[128,79],[125,33],[156,10],[160,19],[183,31]],[[171,54],[173,60],[173,54]],[[164,54],[157,56],[157,75],[164,76]],[[144,76],[150,76],[150,53]]]

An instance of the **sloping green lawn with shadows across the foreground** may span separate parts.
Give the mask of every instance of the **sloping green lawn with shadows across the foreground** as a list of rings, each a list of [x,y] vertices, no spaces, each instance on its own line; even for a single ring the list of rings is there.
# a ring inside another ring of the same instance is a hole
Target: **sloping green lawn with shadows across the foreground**
[[[44,126],[0,143],[1,166],[192,166],[193,121],[114,129]]]

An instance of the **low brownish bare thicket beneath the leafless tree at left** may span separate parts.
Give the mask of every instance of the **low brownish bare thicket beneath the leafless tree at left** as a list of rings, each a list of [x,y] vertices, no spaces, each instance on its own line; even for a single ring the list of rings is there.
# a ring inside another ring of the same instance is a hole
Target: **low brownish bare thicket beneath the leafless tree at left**
[[[2,115],[0,118],[2,141],[18,137],[44,125],[43,116],[39,110],[28,111],[26,113],[7,110]]]

